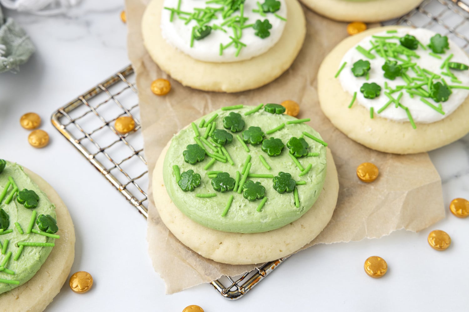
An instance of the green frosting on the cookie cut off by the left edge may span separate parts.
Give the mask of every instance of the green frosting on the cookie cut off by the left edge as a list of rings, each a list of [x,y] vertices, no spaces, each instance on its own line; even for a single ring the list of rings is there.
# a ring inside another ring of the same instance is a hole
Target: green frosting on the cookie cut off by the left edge
[[[10,259],[5,265],[6,268],[15,272],[14,275],[7,274],[0,271],[0,278],[7,280],[19,281],[19,285],[26,283],[33,277],[41,265],[47,259],[47,256],[52,251],[53,247],[23,247],[23,252],[17,261],[13,258],[18,251],[16,243],[18,242],[41,242],[41,243],[53,243],[55,239],[46,237],[43,235],[35,234],[31,232],[26,234],[26,229],[30,223],[31,214],[33,210],[37,212],[37,216],[40,214],[50,215],[54,219],[57,218],[55,214],[55,206],[49,201],[47,196],[39,189],[38,185],[31,181],[30,177],[24,173],[23,168],[17,164],[7,162],[7,166],[0,174],[0,193],[3,191],[4,187],[8,183],[8,177],[12,177],[15,181],[18,189],[29,189],[33,190],[38,196],[38,206],[34,209],[27,209],[22,204],[16,201],[16,196],[8,204],[5,203],[6,199],[0,203],[0,208],[5,210],[10,218],[10,225],[8,230],[13,230],[11,233],[0,235],[0,242],[2,245],[5,244],[5,239],[9,240],[8,248],[5,254],[0,254],[0,262],[5,259],[5,256],[9,251],[12,252]],[[13,187],[10,186],[8,193],[10,194],[13,190]],[[20,234],[16,229],[15,222],[18,222],[24,234]],[[33,229],[38,230],[36,223],[33,226]],[[0,293],[11,290],[19,285],[0,283]]]

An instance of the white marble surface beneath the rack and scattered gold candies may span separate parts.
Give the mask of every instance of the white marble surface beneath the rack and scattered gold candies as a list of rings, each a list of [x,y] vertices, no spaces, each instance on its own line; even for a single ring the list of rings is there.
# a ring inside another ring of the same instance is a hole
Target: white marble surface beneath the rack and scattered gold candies
[[[144,218],[49,122],[55,109],[129,64],[122,8],[121,0],[83,0],[55,17],[6,12],[23,25],[38,51],[19,73],[0,74],[0,157],[33,169],[61,194],[76,226],[72,272],[89,271],[95,281],[83,295],[65,284],[46,311],[179,312],[192,304],[206,312],[467,311],[469,219],[449,212],[419,233],[310,248],[238,301],[222,298],[208,284],[165,295],[146,252]],[[28,111],[44,120],[41,129],[51,136],[45,149],[30,147],[29,132],[19,126]],[[431,152],[431,158],[442,177],[445,206],[455,197],[469,198],[469,136]],[[83,180],[86,189],[80,189]],[[123,229],[125,236],[119,235]],[[451,235],[453,244],[445,252],[428,246],[433,229]],[[386,259],[385,277],[372,279],[363,272],[371,255]]]

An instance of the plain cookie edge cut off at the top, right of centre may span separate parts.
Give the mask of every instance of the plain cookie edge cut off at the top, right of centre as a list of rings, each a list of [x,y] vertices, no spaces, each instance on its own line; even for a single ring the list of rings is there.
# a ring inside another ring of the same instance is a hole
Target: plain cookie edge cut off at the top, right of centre
[[[401,17],[422,0],[301,0],[320,15],[341,22],[382,22]]]

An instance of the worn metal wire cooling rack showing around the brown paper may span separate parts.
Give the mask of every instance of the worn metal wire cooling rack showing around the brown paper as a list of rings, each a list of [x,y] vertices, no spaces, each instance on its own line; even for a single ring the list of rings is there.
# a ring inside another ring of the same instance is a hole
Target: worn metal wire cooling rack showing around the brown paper
[[[425,0],[407,15],[385,24],[432,29],[469,52],[469,6],[461,0]],[[147,218],[148,167],[139,113],[135,74],[127,66],[55,111],[52,123]],[[119,134],[113,124],[120,116],[132,117],[136,129]],[[268,262],[236,278],[222,277],[211,284],[222,296],[238,299],[285,259]]]

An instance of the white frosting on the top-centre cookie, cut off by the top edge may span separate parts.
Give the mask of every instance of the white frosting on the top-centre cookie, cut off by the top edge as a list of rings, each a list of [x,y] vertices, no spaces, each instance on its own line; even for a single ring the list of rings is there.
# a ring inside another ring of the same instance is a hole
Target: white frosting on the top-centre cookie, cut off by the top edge
[[[275,14],[287,18],[287,5],[285,0],[280,1],[280,10],[275,12]],[[261,1],[261,3],[263,3]],[[165,0],[163,7],[177,8],[178,0]],[[219,7],[217,4],[209,4],[210,7]],[[204,0],[182,0],[181,1],[181,11],[193,12],[195,7],[204,8],[206,7]],[[173,22],[170,22],[171,11],[163,9],[161,13],[161,33],[163,38],[179,49],[185,54],[188,54],[190,57],[205,61],[205,62],[238,62],[245,59],[254,58],[258,55],[261,55],[272,48],[280,39],[283,29],[285,28],[285,22],[280,18],[274,16],[272,13],[265,13],[265,17],[261,16],[259,13],[252,12],[253,9],[257,9],[256,0],[246,0],[244,2],[244,17],[249,18],[244,24],[253,24],[256,20],[264,21],[268,19],[272,24],[270,29],[270,36],[262,39],[254,33],[252,27],[245,28],[242,30],[242,37],[240,41],[243,44],[246,44],[236,57],[236,48],[234,44],[227,47],[222,55],[219,55],[220,43],[223,45],[229,44],[232,40],[229,38],[233,36],[233,29],[224,27],[227,30],[227,33],[213,29],[209,36],[201,40],[194,40],[193,47],[190,47],[190,39],[192,33],[192,27],[198,26],[196,21],[189,22],[188,25],[185,25],[185,21],[179,19],[176,14],[174,14]],[[231,16],[239,15],[239,11],[236,11]],[[182,15],[185,16],[185,15]],[[223,22],[221,17],[221,12],[217,15],[218,19],[214,19],[209,22],[207,25],[212,26],[216,24],[220,26]]]

